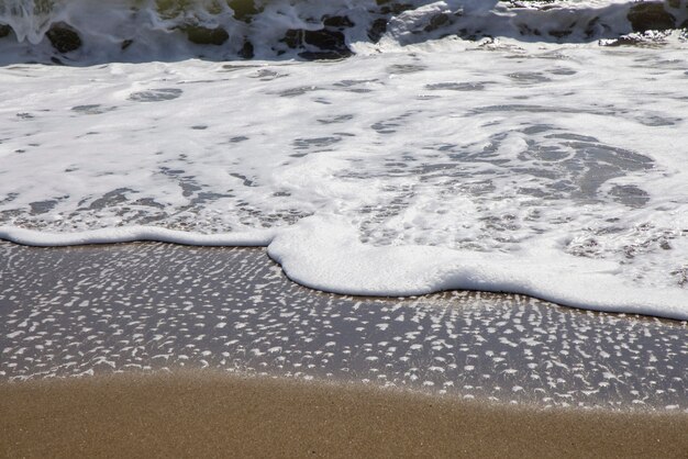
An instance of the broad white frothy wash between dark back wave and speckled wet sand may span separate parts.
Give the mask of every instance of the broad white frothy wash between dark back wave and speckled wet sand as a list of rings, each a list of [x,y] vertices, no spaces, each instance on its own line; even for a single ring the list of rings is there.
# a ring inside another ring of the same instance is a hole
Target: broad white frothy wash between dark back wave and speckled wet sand
[[[269,244],[334,292],[686,318],[684,45],[504,43],[0,68],[2,237],[182,229],[164,240]]]

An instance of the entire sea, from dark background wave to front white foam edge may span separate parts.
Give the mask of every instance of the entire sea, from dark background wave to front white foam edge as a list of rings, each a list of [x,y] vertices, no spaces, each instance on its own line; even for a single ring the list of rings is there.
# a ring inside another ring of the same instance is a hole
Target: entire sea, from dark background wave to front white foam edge
[[[3,238],[688,318],[685,2],[0,5]]]

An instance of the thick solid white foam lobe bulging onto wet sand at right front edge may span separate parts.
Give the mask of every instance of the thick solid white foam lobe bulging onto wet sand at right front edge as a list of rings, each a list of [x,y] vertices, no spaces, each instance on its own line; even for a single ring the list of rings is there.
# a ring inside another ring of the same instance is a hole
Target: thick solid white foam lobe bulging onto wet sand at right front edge
[[[679,289],[657,292],[630,286],[619,279],[613,262],[562,255],[555,244],[533,251],[371,247],[360,244],[357,232],[336,217],[303,219],[268,246],[268,254],[289,278],[329,292],[398,296],[482,290],[522,293],[581,309],[688,317],[686,293]]]

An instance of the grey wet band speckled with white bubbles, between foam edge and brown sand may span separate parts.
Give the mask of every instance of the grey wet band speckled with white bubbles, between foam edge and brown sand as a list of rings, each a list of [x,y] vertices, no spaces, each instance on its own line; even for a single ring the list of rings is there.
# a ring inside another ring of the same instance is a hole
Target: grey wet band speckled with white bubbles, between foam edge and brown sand
[[[219,369],[539,406],[678,410],[688,325],[521,295],[341,296],[264,249],[0,244],[0,379]]]

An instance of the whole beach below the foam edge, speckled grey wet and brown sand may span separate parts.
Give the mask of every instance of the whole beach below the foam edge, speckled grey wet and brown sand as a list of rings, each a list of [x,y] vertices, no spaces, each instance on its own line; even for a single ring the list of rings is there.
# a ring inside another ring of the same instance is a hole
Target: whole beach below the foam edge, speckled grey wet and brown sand
[[[262,249],[0,244],[4,457],[686,457],[686,323],[341,296]]]

